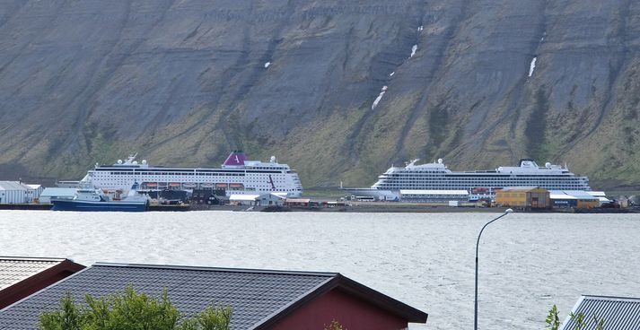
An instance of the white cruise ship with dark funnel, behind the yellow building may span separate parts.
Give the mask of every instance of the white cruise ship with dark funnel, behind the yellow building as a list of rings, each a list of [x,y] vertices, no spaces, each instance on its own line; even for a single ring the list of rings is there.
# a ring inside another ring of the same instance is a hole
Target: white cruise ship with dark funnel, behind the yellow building
[[[452,171],[443,160],[416,165],[411,161],[403,168],[387,169],[370,188],[345,188],[356,196],[371,196],[380,200],[398,200],[400,190],[467,190],[469,200],[495,197],[502,187],[543,187],[549,190],[592,190],[589,178],[576,176],[560,165],[539,166],[531,159],[522,159],[518,166],[491,170]]]

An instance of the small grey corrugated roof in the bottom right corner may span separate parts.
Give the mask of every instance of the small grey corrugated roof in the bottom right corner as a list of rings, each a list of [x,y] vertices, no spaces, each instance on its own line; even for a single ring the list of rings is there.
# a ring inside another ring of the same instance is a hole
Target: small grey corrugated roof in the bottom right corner
[[[623,297],[582,296],[572,310],[574,314],[583,313],[587,326],[583,330],[596,327],[593,317],[604,319],[607,330],[640,329],[640,299]],[[562,329],[574,330],[576,323],[566,318]]]

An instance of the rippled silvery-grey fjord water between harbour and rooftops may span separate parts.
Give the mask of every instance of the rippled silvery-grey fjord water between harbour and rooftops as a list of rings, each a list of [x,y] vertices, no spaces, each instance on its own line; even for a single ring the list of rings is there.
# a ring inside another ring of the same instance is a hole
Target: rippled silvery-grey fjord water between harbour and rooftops
[[[0,211],[0,256],[339,272],[473,326],[478,231],[500,213]],[[478,327],[542,329],[581,294],[637,297],[640,214],[512,213],[480,240]]]

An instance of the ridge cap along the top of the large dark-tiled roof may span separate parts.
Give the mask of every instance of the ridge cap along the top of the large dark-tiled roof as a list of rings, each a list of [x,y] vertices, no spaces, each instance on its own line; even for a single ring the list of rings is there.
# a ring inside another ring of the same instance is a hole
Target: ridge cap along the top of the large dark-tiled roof
[[[339,273],[333,273],[333,272],[285,271],[285,270],[276,270],[276,269],[207,267],[207,266],[194,266],[194,265],[153,265],[153,264],[108,263],[108,262],[96,262],[95,264],[92,265],[92,267],[101,267],[101,266],[176,269],[176,270],[250,273],[250,274],[290,274],[290,275],[327,276],[327,277],[336,277],[339,275]]]

